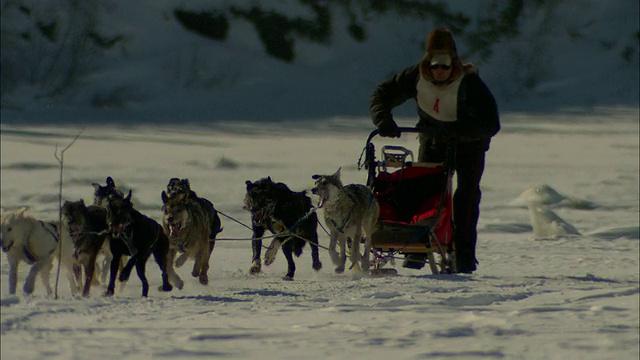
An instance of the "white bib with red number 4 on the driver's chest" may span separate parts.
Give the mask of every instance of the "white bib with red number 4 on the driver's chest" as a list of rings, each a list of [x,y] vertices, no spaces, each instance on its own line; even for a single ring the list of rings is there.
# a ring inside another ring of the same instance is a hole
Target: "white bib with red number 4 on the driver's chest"
[[[456,121],[458,119],[458,88],[462,76],[445,88],[439,88],[422,76],[416,84],[418,90],[418,107],[432,118],[439,121]]]

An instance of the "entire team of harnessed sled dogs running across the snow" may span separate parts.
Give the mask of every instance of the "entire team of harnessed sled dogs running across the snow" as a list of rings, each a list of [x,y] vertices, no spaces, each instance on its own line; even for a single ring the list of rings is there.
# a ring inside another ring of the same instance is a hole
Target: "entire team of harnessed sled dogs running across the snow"
[[[305,191],[292,191],[270,177],[246,181],[243,209],[251,214],[253,231],[249,273],[262,271],[262,239],[266,230],[273,237],[264,255],[264,265],[271,265],[282,249],[287,260],[284,280],[294,279],[293,255],[299,257],[306,243],[311,248],[313,269],[322,269],[316,214],[319,208],[323,209],[324,223],[329,229],[329,255],[335,272],[345,271],[348,244],[354,278],[369,270],[370,235],[380,211],[373,193],[364,185],[343,185],[340,169],[331,175],[312,178],[315,180],[312,193],[319,198],[318,208],[313,207]],[[60,259],[71,293],[85,297],[89,296],[92,285],[99,284],[97,274],[103,283],[108,278],[105,296],[113,296],[116,277],[121,283],[126,282],[134,267],[142,283],[142,296],[148,296],[146,263],[151,255],[162,274],[159,291],[182,289],[184,281],[175,268],[190,259],[194,260],[191,275],[200,284],[208,284],[209,261],[222,226],[211,201],[198,196],[188,179],[172,178],[166,191],[162,191],[162,224],[136,210],[131,190],[125,195],[111,177],[107,177],[106,185],[92,185],[93,204],[87,206],[82,199],[66,201],[61,209],[61,224],[34,219],[27,215],[26,209],[3,214],[0,244],[9,262],[10,294],[16,293],[18,265],[25,262],[31,269],[24,293],[33,292],[39,276],[47,295],[51,295],[49,277],[53,259]],[[364,239],[363,252],[360,252],[361,239]],[[99,255],[105,259],[102,264],[97,263]]]

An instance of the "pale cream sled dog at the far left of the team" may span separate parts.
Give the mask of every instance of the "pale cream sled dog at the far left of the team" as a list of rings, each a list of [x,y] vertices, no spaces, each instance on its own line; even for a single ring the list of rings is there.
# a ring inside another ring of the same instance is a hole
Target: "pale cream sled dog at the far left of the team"
[[[9,293],[16,293],[18,283],[18,265],[21,261],[32,265],[25,280],[23,291],[31,294],[35,287],[36,276],[40,275],[42,284],[51,295],[50,273],[52,261],[57,259],[62,241],[61,265],[67,270],[67,278],[71,286],[71,293],[80,290],[80,268],[73,260],[73,244],[66,229],[63,228],[62,239],[58,236],[58,226],[55,223],[36,220],[25,214],[23,208],[7,215],[2,219],[0,244],[2,251],[7,253],[9,260]]]

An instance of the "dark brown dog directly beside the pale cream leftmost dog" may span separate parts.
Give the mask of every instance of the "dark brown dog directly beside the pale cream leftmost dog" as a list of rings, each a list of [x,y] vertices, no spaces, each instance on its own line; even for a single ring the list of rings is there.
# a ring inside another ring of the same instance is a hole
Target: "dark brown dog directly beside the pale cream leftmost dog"
[[[85,282],[82,296],[89,296],[92,284],[98,284],[94,277],[96,270],[107,274],[107,263],[111,260],[108,248],[107,210],[96,205],[86,206],[84,200],[65,201],[62,206],[62,216],[69,228],[75,251],[73,256],[84,268]],[[105,263],[98,268],[96,258],[102,253]],[[104,279],[102,279],[104,281]]]

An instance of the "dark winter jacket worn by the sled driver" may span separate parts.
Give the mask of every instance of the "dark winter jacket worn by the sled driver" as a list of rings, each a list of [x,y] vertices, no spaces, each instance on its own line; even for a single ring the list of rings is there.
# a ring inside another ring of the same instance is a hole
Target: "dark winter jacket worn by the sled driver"
[[[391,111],[405,101],[413,98],[417,107],[416,84],[419,78],[419,65],[414,65],[378,85],[370,101],[371,118],[378,128],[395,126]],[[465,71],[460,83],[456,121],[443,123],[419,107],[417,111],[419,121],[416,127],[436,139],[446,136],[457,142],[484,143],[488,149],[491,137],[500,130],[496,101],[475,71]]]

